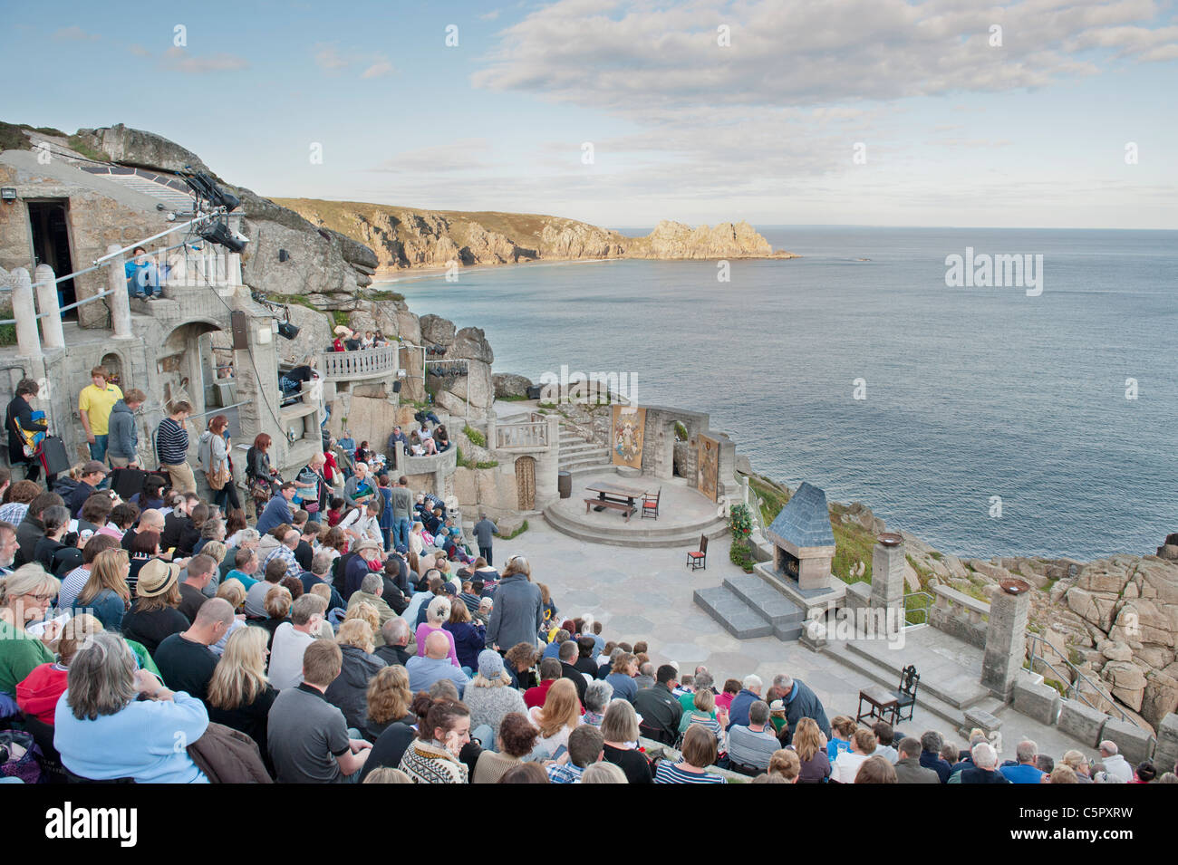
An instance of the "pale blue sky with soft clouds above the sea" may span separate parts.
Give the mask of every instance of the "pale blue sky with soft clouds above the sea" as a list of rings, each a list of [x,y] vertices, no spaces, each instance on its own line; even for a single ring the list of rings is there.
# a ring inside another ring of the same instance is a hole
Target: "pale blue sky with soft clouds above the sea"
[[[269,197],[1173,229],[1176,7],[59,0],[5,11],[0,119],[148,129]]]

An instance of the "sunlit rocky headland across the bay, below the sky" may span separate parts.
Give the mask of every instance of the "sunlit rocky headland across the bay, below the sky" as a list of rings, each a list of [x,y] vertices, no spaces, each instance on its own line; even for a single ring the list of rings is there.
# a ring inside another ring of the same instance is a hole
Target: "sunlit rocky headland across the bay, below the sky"
[[[495,211],[426,211],[358,201],[273,199],[312,225],[373,249],[377,277],[410,268],[590,259],[798,258],[774,252],[748,222],[714,227],[663,220],[629,238],[574,219]]]

